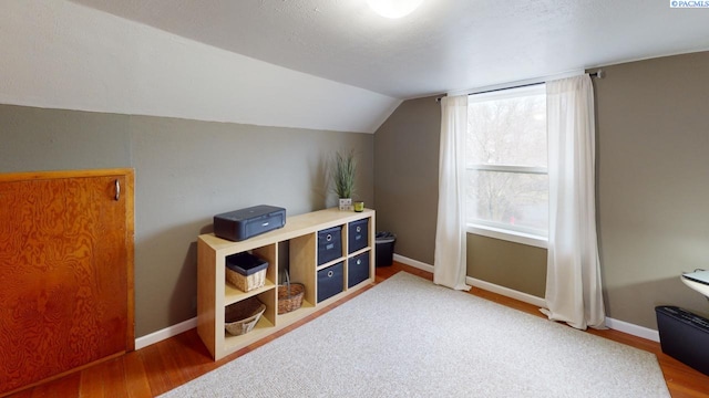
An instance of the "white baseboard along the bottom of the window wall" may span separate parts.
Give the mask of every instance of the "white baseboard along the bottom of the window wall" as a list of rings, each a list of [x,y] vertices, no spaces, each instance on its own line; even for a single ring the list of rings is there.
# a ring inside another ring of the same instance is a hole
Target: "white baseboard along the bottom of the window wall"
[[[429,272],[433,272],[433,265],[427,264],[427,263],[422,263],[420,261],[417,260],[412,260],[409,258],[405,258],[403,255],[399,255],[399,254],[394,254],[394,260],[402,263],[402,264],[407,264],[407,265],[411,265],[413,268],[423,270],[423,271],[429,271]],[[505,286],[500,286],[496,285],[494,283],[490,283],[490,282],[485,282],[485,281],[481,281],[474,277],[470,277],[467,276],[465,279],[465,282],[467,284],[470,284],[471,286],[477,287],[477,289],[482,289],[482,290],[486,290],[489,292],[493,292],[493,293],[497,293],[500,295],[506,296],[506,297],[511,297],[514,300],[518,300],[521,302],[524,303],[528,303],[532,305],[536,305],[540,308],[546,308],[546,301],[542,297],[537,297],[537,296],[533,296],[531,294],[527,293],[523,293],[523,292],[517,292],[515,290],[505,287]],[[612,317],[606,317],[606,326],[608,328],[618,331],[618,332],[623,332],[623,333],[627,333],[629,335],[633,336],[637,336],[637,337],[641,337],[645,339],[649,339],[651,342],[659,342],[660,341],[660,334],[659,332],[651,329],[651,328],[647,328],[644,326],[638,326],[625,321],[618,321],[618,320],[614,320]]]

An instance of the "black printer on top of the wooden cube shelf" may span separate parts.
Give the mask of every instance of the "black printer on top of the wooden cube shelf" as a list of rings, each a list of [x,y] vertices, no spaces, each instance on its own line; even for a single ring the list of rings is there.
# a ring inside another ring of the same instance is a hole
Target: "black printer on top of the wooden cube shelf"
[[[214,216],[214,234],[243,241],[286,224],[286,209],[259,205]]]

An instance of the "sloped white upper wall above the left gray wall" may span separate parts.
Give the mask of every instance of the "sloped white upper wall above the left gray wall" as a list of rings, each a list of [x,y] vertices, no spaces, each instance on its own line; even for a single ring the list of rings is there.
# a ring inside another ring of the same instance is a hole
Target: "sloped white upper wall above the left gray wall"
[[[69,1],[0,9],[3,104],[373,133],[401,103]]]

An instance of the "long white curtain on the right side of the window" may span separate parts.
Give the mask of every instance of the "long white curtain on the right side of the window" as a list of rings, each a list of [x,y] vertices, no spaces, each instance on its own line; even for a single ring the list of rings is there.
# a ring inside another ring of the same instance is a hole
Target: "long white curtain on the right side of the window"
[[[595,210],[594,92],[588,75],[546,84],[549,235],[546,304],[553,321],[605,327]]]

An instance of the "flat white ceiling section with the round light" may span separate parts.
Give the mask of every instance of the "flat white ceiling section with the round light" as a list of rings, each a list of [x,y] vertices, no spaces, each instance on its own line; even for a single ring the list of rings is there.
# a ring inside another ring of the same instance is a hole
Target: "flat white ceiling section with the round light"
[[[294,71],[413,98],[709,50],[709,9],[668,0],[73,0]]]

